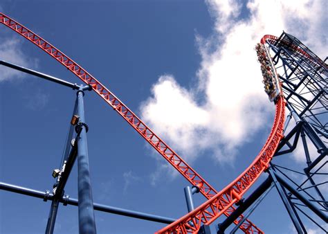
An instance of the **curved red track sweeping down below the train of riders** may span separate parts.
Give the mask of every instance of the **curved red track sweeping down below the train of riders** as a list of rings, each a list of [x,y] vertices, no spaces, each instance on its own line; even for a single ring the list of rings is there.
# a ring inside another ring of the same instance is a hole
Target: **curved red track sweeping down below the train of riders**
[[[277,37],[265,35],[261,39],[261,44],[265,44],[266,40],[275,42]],[[176,220],[176,222],[162,228],[157,233],[197,233],[202,224],[209,225],[222,214],[232,213],[233,205],[242,199],[245,192],[255,183],[262,172],[268,168],[268,163],[270,163],[280,140],[283,138],[285,120],[284,107],[284,97],[279,96],[275,104],[275,119],[273,121],[271,133],[253,163],[251,163],[239,177],[210,200],[181,217],[181,219]],[[240,217],[237,219],[237,223],[239,221]],[[244,228],[246,228],[244,231],[247,233],[253,233],[250,226],[244,226]]]

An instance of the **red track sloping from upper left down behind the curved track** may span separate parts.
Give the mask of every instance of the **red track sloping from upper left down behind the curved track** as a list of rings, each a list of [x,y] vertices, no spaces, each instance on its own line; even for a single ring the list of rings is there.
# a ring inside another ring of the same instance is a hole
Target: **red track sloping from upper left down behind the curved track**
[[[8,26],[8,28],[14,30],[16,33],[28,39],[28,41],[35,44],[37,47],[41,48],[42,51],[51,55],[55,60],[64,65],[69,71],[78,76],[84,83],[90,84],[93,91],[98,93],[98,95],[106,101],[115,111],[124,118],[131,127],[133,127],[138,134],[143,136],[145,140],[154,147],[154,149],[160,153],[164,159],[166,159],[176,170],[178,170],[185,179],[187,179],[193,186],[197,186],[201,194],[206,197],[206,199],[212,199],[217,195],[217,191],[210,186],[188,163],[186,163],[181,156],[176,154],[169,145],[167,145],[161,138],[159,138],[145,123],[143,123],[134,112],[132,112],[123,102],[120,101],[111,91],[109,91],[103,84],[98,80],[93,78],[93,76],[88,73],[82,66],[78,65],[76,62],[71,60],[70,57],[66,56],[59,49],[55,48],[52,44],[47,42],[39,35],[33,33],[31,30],[25,26],[19,24],[14,19],[4,15],[0,12],[0,23]],[[229,206],[228,209],[222,210],[222,212],[229,216],[235,210],[233,206]],[[242,215],[239,217],[242,219]],[[235,224],[238,222],[235,221]],[[242,226],[240,226],[242,231],[245,233],[262,233],[262,231],[255,226],[248,219]]]

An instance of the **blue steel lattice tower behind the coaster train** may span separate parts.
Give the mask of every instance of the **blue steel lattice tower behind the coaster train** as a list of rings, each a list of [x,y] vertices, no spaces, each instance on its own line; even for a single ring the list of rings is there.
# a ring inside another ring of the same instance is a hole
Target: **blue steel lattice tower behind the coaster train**
[[[288,33],[267,46],[289,111],[270,173],[298,233],[327,233],[327,57]]]

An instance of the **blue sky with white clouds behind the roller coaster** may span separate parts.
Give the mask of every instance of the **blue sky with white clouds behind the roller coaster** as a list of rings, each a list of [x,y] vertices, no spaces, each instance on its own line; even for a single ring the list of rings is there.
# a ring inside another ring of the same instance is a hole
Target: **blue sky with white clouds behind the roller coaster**
[[[93,74],[220,190],[253,161],[273,120],[255,42],[286,30],[324,54],[327,34],[320,29],[327,17],[313,17],[322,6],[327,9],[324,1],[298,8],[289,1],[2,1],[0,9]],[[0,39],[1,60],[80,83],[5,26]],[[0,71],[0,180],[51,190],[75,92]],[[184,215],[188,183],[95,93],[86,93],[85,109],[93,200]],[[66,193],[78,197],[76,168]],[[197,206],[204,201],[194,199]],[[1,191],[0,232],[44,233],[50,204]],[[97,211],[95,217],[98,233],[154,233],[164,226]],[[292,231],[274,190],[250,219],[266,233]],[[78,233],[78,208],[60,206],[55,233]]]

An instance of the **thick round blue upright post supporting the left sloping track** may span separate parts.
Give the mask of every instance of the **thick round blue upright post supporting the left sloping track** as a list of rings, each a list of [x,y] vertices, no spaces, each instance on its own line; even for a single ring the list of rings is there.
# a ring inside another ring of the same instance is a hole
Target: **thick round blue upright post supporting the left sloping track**
[[[82,87],[78,93],[78,116],[80,116],[78,134],[78,197],[79,197],[79,231],[95,233],[95,214],[91,192],[88,147],[86,143],[86,125],[84,123],[84,92]]]

